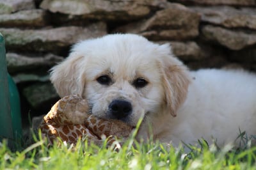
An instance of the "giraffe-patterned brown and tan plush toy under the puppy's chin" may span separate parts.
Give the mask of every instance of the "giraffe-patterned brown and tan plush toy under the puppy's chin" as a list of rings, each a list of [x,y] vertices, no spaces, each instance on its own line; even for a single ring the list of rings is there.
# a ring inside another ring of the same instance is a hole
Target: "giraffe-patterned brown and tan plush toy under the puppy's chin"
[[[132,127],[119,120],[104,120],[87,114],[89,106],[86,100],[78,95],[61,98],[44,116],[40,124],[42,136],[50,144],[58,137],[66,143],[76,144],[79,138],[87,137],[91,143],[102,143],[107,137],[108,145],[115,139],[127,138]]]

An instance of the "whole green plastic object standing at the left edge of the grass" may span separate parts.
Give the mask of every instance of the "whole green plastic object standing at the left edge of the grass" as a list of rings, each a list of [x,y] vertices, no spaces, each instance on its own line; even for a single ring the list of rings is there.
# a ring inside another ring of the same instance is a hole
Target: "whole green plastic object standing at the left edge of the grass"
[[[7,72],[4,38],[0,33],[0,142],[8,139],[12,145],[21,136],[19,93]]]

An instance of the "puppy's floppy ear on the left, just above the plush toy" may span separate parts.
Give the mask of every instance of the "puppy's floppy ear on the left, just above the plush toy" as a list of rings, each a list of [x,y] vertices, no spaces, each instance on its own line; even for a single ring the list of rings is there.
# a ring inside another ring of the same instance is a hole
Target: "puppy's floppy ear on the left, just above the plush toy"
[[[81,70],[82,58],[77,52],[71,52],[68,58],[51,68],[50,79],[60,97],[83,94],[85,78]]]

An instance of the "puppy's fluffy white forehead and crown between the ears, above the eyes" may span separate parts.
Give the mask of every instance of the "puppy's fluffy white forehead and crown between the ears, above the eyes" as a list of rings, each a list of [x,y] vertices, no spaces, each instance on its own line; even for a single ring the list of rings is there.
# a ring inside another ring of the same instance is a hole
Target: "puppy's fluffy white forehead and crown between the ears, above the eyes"
[[[111,72],[117,77],[133,78],[157,73],[159,45],[136,35],[109,35],[79,43],[90,75]],[[140,75],[143,74],[143,75]]]

